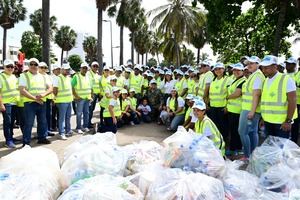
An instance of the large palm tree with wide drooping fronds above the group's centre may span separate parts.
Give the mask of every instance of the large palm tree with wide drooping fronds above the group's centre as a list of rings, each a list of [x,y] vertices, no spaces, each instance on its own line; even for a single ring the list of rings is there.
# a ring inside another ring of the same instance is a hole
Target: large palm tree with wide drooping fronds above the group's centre
[[[159,6],[151,10],[148,16],[155,15],[151,27],[157,27],[158,35],[165,35],[167,38],[173,38],[172,42],[176,44],[176,64],[180,65],[180,43],[191,42],[193,35],[198,28],[205,22],[204,13],[197,7],[187,5],[187,0],[168,0],[168,4]]]

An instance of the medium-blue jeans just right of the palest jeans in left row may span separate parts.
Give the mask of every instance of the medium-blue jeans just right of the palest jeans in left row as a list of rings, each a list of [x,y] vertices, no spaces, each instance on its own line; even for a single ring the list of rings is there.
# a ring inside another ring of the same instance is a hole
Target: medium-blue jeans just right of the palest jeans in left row
[[[89,125],[89,100],[76,101],[76,129],[88,128]],[[83,125],[81,126],[81,118],[83,115]]]

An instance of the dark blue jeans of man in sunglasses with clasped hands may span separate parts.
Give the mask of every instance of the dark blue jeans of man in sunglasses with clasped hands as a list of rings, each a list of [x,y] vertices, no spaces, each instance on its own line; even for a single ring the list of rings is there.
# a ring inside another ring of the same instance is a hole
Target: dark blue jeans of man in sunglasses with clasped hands
[[[35,116],[37,117],[37,135],[38,140],[47,137],[47,120],[46,120],[46,104],[38,104],[36,102],[26,102],[24,104],[24,134],[23,144],[30,144],[31,132]]]

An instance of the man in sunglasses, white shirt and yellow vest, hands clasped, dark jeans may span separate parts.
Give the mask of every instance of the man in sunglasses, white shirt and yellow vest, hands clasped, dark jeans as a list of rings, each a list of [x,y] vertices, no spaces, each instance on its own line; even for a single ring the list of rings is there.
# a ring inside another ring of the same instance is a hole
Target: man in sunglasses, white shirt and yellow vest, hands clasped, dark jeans
[[[52,93],[52,86],[47,84],[45,77],[38,72],[39,61],[29,60],[29,70],[19,79],[19,89],[24,101],[24,133],[23,146],[30,145],[31,132],[37,117],[38,144],[50,144],[47,137],[46,97]]]

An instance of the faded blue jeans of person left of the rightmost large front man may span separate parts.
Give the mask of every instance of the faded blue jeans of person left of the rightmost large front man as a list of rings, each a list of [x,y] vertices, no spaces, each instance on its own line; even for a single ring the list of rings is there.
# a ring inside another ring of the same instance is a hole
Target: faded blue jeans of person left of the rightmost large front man
[[[249,112],[242,110],[239,120],[239,135],[247,158],[258,145],[258,123],[261,116],[260,113],[255,113],[253,119],[249,120],[248,123],[247,115]]]

